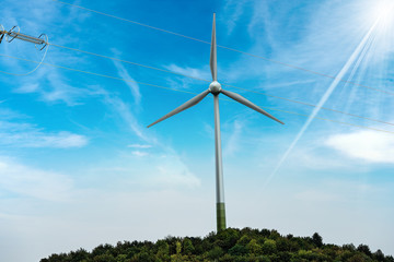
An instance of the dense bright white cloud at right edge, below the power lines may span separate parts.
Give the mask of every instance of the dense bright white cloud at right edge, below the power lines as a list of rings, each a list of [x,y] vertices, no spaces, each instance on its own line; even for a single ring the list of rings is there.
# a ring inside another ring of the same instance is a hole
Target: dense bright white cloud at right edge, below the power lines
[[[325,144],[351,158],[394,164],[394,136],[391,134],[376,131],[335,134]]]

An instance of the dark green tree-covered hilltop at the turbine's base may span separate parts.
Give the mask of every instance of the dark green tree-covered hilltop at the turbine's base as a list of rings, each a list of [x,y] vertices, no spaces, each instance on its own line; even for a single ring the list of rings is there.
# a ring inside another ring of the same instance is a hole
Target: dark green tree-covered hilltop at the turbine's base
[[[51,254],[40,262],[394,262],[381,250],[371,252],[367,245],[324,245],[312,237],[281,236],[277,230],[228,228],[200,237],[167,236],[157,242],[124,241],[116,246],[100,245],[91,252],[79,249]]]

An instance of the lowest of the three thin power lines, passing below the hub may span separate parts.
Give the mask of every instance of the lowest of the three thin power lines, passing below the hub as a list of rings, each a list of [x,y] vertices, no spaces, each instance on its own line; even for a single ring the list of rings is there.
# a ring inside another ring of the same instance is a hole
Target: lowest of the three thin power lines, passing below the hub
[[[39,62],[37,62],[37,61],[34,61],[34,60],[28,60],[28,59],[24,59],[24,58],[12,57],[12,56],[8,56],[8,55],[1,55],[1,53],[0,53],[0,56],[7,57],[7,58],[12,58],[12,59],[18,59],[18,60],[22,60],[22,61],[27,61],[27,62],[39,63]],[[158,88],[163,88],[163,90],[170,90],[170,91],[175,91],[175,92],[182,92],[182,93],[186,93],[186,94],[197,95],[197,93],[195,93],[195,92],[176,90],[176,88],[165,87],[165,86],[161,86],[161,85],[155,85],[155,84],[150,84],[150,83],[143,83],[143,82],[139,82],[139,81],[134,81],[134,80],[128,80],[128,79],[121,79],[121,78],[116,78],[116,76],[112,76],[112,75],[100,74],[100,73],[94,73],[94,72],[84,71],[84,70],[79,70],[79,69],[73,69],[73,68],[67,68],[67,67],[57,66],[57,64],[51,64],[51,63],[46,63],[46,62],[43,62],[43,64],[46,64],[46,66],[49,66],[49,67],[54,67],[54,68],[70,70],[70,71],[74,71],[74,72],[79,72],[79,73],[85,73],[85,74],[91,74],[91,75],[95,75],[95,76],[101,76],[101,78],[119,80],[119,81],[124,81],[124,82],[132,82],[132,83],[141,84],[141,85],[147,85],[147,86],[152,86],[152,87],[158,87]],[[222,98],[221,98],[221,99],[222,99]],[[229,100],[229,102],[231,102],[230,99],[225,99],[225,98],[222,99],[222,100]],[[268,109],[268,110],[274,110],[274,111],[280,111],[280,112],[297,115],[297,116],[301,116],[301,117],[309,117],[308,115],[303,115],[303,114],[299,114],[299,112],[294,112],[294,111],[281,110],[281,109],[277,109],[277,108],[270,108],[270,107],[262,107],[262,108],[265,108],[265,109]],[[334,123],[339,123],[339,124],[345,124],[345,126],[350,126],[350,127],[356,127],[356,128],[361,128],[361,129],[369,129],[369,130],[373,130],[373,131],[379,131],[379,132],[384,132],[384,133],[394,134],[394,132],[389,131],[389,130],[375,129],[375,128],[370,128],[370,127],[366,127],[366,126],[359,126],[359,124],[354,124],[354,123],[349,123],[349,122],[343,122],[343,121],[332,120],[332,119],[328,119],[328,118],[315,117],[315,119],[323,120],[323,121],[329,121],[329,122],[334,122]]]

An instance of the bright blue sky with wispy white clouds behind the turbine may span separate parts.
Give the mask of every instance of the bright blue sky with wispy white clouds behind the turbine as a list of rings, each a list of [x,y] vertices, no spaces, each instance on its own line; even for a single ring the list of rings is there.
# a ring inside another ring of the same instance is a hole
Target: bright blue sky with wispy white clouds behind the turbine
[[[216,12],[220,46],[363,85],[218,48],[223,87],[286,123],[220,100],[228,226],[318,231],[325,242],[394,254],[394,21],[376,12],[378,2],[70,1],[204,41]],[[201,41],[51,0],[4,7],[7,29],[19,25],[56,45],[210,80],[210,47]],[[19,40],[0,49],[37,61],[44,55]],[[209,82],[56,46],[44,62],[26,76],[0,73],[1,261],[215,230],[211,96],[146,128]],[[34,67],[0,57],[1,71]],[[305,126],[313,107],[262,93],[381,122],[322,109],[317,118],[354,126],[320,119]]]

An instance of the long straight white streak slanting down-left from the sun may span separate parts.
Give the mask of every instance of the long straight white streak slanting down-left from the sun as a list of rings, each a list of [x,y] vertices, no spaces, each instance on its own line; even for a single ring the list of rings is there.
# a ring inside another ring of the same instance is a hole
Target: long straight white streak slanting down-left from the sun
[[[293,147],[296,146],[297,142],[301,139],[301,136],[304,134],[304,132],[306,131],[306,129],[309,128],[309,126],[311,124],[311,122],[313,121],[313,119],[316,117],[316,115],[318,114],[318,111],[322,109],[322,107],[324,106],[324,104],[327,102],[327,99],[329,98],[331,94],[334,92],[334,90],[337,87],[338,83],[341,81],[341,79],[344,78],[344,75],[346,74],[346,72],[349,70],[350,66],[356,61],[356,59],[360,56],[360,52],[362,51],[363,47],[366,46],[367,41],[369,40],[369,38],[371,37],[372,32],[374,31],[374,28],[376,27],[376,25],[379,24],[379,19],[376,20],[376,22],[372,25],[372,27],[368,31],[368,33],[366,34],[366,36],[362,38],[361,43],[357,46],[356,50],[351,53],[350,58],[347,60],[347,62],[345,63],[345,66],[343,67],[343,69],[339,71],[339,73],[336,75],[336,78],[334,79],[333,83],[329,85],[328,90],[324,93],[324,95],[322,96],[322,98],[320,99],[318,104],[316,105],[316,107],[313,109],[312,114],[309,116],[306,122],[303,124],[303,127],[301,128],[300,132],[297,134],[296,139],[293,140],[293,142],[291,143],[291,145],[289,146],[289,148],[286,151],[286,153],[283,154],[283,156],[281,157],[281,159],[279,160],[278,165],[276,166],[276,168],[274,169],[274,171],[269,175],[269,177],[267,178],[267,180],[265,181],[263,188],[265,188],[270,180],[273,179],[273,177],[278,172],[278,170],[280,169],[280,167],[282,166],[283,162],[286,160],[286,158],[289,156],[290,152],[293,150]]]

